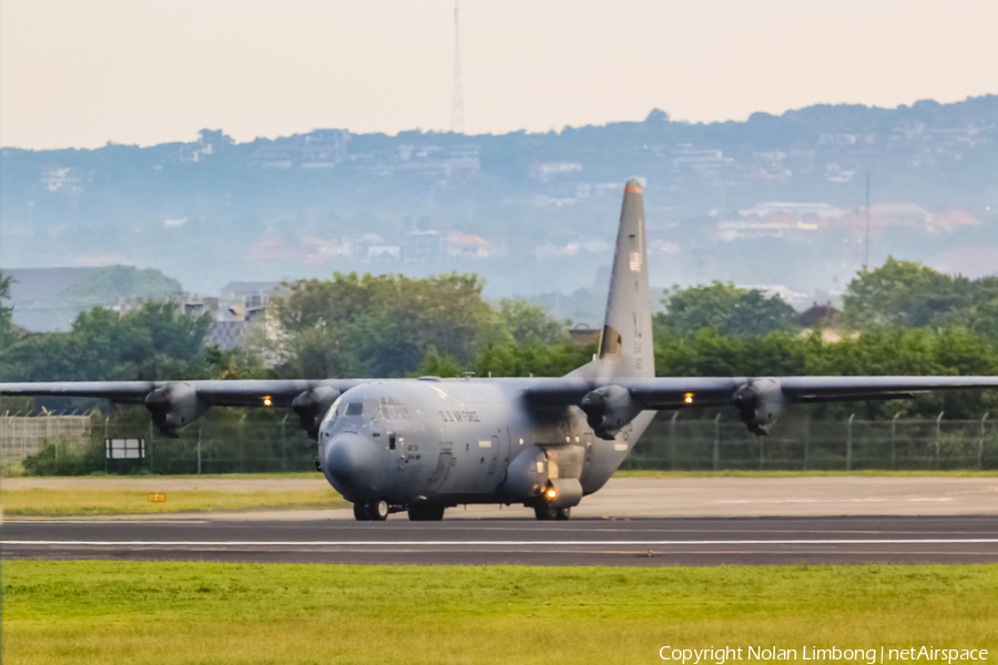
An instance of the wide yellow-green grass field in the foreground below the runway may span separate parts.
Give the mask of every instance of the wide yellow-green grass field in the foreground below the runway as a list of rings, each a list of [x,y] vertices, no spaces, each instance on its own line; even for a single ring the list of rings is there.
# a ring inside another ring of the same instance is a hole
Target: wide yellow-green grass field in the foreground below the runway
[[[3,662],[655,663],[664,645],[998,653],[998,566],[3,563]]]

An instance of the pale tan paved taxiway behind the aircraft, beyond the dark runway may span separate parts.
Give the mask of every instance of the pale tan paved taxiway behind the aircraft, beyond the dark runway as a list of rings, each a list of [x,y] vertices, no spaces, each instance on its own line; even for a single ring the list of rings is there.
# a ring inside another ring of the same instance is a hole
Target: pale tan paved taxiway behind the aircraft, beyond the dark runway
[[[288,492],[329,490],[315,478],[11,478],[4,490],[129,490],[175,492]],[[184,513],[163,513],[177,519]],[[572,509],[573,518],[758,518],[818,515],[998,515],[998,477],[859,477],[804,478],[612,478],[607,487]],[[196,515],[195,515],[196,516]],[[468,505],[447,511],[462,518],[532,519],[522,505]],[[144,519],[152,519],[146,515]],[[213,513],[213,520],[353,520],[347,510]]]

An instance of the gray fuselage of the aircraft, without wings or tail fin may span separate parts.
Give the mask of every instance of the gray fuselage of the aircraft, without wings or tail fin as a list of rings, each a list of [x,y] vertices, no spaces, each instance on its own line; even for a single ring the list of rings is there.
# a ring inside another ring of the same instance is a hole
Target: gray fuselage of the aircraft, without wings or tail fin
[[[322,470],[354,503],[529,503],[559,479],[591,494],[653,417],[642,412],[604,440],[578,407],[529,407],[529,383],[430,378],[352,388],[323,419]]]

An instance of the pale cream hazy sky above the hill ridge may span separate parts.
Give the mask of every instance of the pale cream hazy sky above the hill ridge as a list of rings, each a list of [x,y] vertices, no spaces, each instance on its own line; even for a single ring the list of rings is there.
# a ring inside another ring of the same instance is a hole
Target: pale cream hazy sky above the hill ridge
[[[452,0],[0,0],[0,145],[448,130]],[[462,0],[468,133],[998,93],[998,0]]]

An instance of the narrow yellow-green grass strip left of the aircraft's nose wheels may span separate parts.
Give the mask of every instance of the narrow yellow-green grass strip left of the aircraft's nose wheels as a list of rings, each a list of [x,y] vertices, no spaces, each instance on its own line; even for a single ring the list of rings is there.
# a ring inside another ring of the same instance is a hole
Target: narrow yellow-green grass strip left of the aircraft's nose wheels
[[[152,503],[149,492],[135,489],[3,490],[3,514],[19,516],[114,515],[190,511],[308,510],[346,508],[333,489],[266,492],[184,490],[166,492],[166,501]]]

